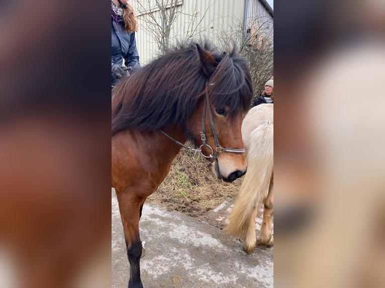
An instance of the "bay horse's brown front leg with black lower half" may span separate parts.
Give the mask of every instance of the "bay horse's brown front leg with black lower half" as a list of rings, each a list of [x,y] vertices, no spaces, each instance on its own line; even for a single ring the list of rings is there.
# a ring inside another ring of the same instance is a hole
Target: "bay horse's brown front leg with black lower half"
[[[127,256],[130,262],[130,281],[128,287],[143,288],[140,279],[142,242],[139,235],[139,219],[145,197],[138,197],[127,190],[122,193],[117,192],[117,197],[126,240]]]

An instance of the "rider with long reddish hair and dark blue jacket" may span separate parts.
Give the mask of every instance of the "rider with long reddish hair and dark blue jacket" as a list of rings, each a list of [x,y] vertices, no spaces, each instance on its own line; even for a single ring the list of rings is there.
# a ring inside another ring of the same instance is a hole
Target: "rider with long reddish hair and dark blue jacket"
[[[140,67],[139,53],[136,48],[135,31],[138,24],[133,8],[128,0],[112,0],[111,31],[111,84],[116,84],[127,75],[126,69]],[[127,68],[123,67],[124,65]]]

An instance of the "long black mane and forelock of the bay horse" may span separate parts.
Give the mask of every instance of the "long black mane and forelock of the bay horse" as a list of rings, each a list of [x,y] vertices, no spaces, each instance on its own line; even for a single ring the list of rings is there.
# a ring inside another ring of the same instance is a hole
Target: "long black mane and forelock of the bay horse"
[[[180,45],[140,68],[113,90],[112,134],[123,129],[151,131],[184,123],[204,95],[206,81],[210,102],[216,108],[247,110],[253,95],[245,59],[218,53],[205,41],[201,47],[218,63],[212,74],[205,71],[197,45]]]

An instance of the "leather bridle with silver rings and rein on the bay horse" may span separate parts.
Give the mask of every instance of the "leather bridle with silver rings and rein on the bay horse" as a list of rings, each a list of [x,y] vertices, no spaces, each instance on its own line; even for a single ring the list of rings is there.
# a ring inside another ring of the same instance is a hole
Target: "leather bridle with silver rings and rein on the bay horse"
[[[213,84],[212,84],[213,85]],[[222,152],[229,152],[229,153],[238,153],[238,154],[241,154],[241,153],[245,153],[245,150],[244,149],[229,149],[229,148],[223,148],[220,143],[219,143],[219,140],[218,140],[218,135],[217,135],[217,130],[215,129],[215,125],[214,125],[214,118],[213,118],[213,113],[211,112],[211,109],[210,109],[210,104],[209,105],[209,117],[210,117],[210,123],[211,123],[211,128],[213,130],[213,136],[214,136],[214,140],[215,140],[215,145],[216,145],[216,148],[215,148],[215,154],[214,154],[214,149],[207,143],[207,140],[206,140],[206,127],[205,127],[205,120],[206,120],[206,104],[209,103],[209,92],[208,92],[208,83],[206,82],[206,91],[205,91],[205,99],[204,99],[204,103],[203,103],[203,112],[202,112],[202,132],[201,132],[201,140],[202,140],[202,145],[198,148],[198,149],[195,149],[195,148],[191,148],[189,146],[185,146],[183,143],[175,140],[174,138],[172,138],[170,135],[168,135],[167,133],[165,133],[164,131],[162,130],[159,130],[160,132],[163,133],[163,135],[165,135],[166,137],[168,137],[169,139],[171,139],[172,141],[174,141],[177,145],[183,147],[184,149],[186,150],[190,150],[190,151],[195,151],[195,152],[199,152],[201,153],[201,155],[205,158],[211,158],[211,161],[210,161],[210,164],[208,165],[208,167],[210,168],[212,165],[213,165],[213,162],[217,159],[218,155]],[[208,147],[210,150],[211,150],[211,153],[210,155],[205,155],[202,151],[202,147]]]

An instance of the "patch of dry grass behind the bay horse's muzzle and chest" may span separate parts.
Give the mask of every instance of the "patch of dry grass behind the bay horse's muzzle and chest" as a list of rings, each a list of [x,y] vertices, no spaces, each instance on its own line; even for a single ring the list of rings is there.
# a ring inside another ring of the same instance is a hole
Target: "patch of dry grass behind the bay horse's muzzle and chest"
[[[166,179],[148,201],[189,216],[200,216],[227,198],[235,198],[241,185],[237,179],[225,183],[207,168],[199,153],[183,150],[174,160]]]

